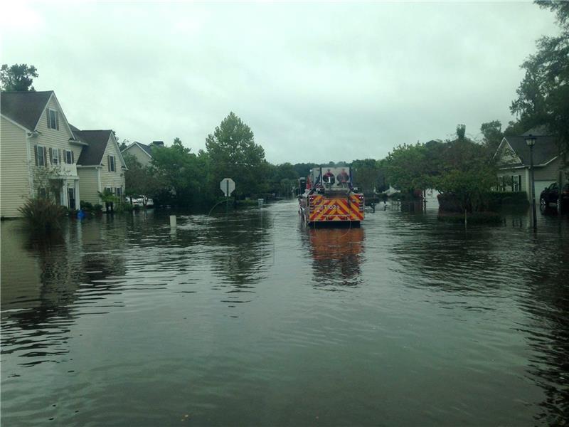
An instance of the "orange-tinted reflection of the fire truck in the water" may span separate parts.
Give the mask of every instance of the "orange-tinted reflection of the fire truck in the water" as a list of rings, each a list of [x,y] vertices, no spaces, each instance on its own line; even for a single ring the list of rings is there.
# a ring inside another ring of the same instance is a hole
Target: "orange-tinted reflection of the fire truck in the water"
[[[308,228],[306,231],[312,255],[314,285],[357,286],[362,283],[363,228]]]

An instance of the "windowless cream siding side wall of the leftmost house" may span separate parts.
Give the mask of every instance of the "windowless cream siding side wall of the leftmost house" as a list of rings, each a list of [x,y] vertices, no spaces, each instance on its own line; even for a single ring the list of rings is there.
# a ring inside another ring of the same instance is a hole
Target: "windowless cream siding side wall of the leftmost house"
[[[20,216],[18,208],[30,196],[30,172],[26,131],[1,117],[0,216]]]

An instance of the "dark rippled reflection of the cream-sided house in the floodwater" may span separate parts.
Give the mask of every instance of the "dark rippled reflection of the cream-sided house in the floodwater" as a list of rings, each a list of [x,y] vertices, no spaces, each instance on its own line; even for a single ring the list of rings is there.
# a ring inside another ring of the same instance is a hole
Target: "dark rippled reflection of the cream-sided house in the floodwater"
[[[25,357],[23,365],[54,362],[53,357],[68,353],[78,305],[117,292],[118,283],[104,282],[124,275],[124,260],[119,253],[86,252],[93,240],[107,236],[100,227],[87,224],[86,233],[83,229],[71,221],[59,238],[45,241],[30,236],[18,221],[3,224],[1,320],[10,327],[3,330],[2,353]]]

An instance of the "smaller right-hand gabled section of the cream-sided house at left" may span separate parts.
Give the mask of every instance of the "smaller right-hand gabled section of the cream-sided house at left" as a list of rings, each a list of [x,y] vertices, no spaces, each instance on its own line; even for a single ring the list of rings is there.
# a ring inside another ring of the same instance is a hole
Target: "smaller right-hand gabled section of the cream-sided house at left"
[[[99,193],[108,190],[115,196],[124,197],[124,172],[127,165],[120,153],[112,130],[78,130],[73,135],[86,145],[78,159],[78,175],[81,185],[81,200],[100,203]]]

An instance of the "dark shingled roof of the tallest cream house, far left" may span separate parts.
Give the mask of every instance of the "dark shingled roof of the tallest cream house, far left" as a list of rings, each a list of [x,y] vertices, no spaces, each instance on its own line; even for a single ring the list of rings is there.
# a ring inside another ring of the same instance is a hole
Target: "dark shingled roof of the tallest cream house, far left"
[[[36,129],[51,95],[53,95],[53,90],[2,92],[0,94],[0,112],[10,120],[14,120],[18,125],[33,131]]]

